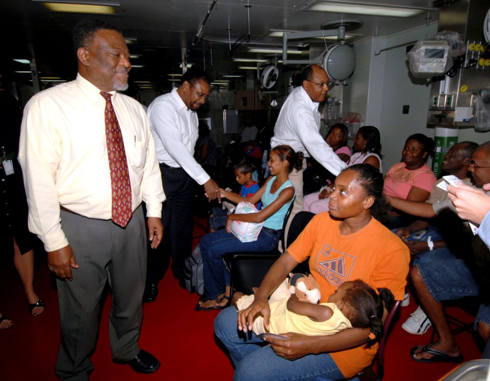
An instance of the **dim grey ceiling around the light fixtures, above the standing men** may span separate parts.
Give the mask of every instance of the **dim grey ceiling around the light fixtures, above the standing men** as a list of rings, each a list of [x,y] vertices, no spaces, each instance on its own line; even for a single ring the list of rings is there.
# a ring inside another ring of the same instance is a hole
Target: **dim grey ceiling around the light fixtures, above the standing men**
[[[141,58],[133,64],[133,80],[150,80],[154,86],[162,86],[167,73],[179,73],[179,63],[188,54],[188,62],[198,64],[211,72],[213,77],[223,73],[243,74],[231,59],[258,57],[247,53],[247,47],[257,44],[278,45],[280,37],[267,36],[271,30],[316,31],[322,25],[340,19],[356,19],[363,26],[348,32],[356,36],[355,42],[378,33],[385,37],[426,25],[428,12],[414,18],[363,16],[340,13],[311,12],[307,9],[321,0],[219,0],[205,23],[202,39],[190,49],[196,40],[212,0],[119,0],[118,14],[95,16],[113,23],[125,37],[137,38],[137,44],[129,45],[132,54]],[[109,1],[110,2],[110,1]],[[432,0],[377,0],[378,4],[431,8]],[[354,0],[350,3],[372,4],[370,0]],[[250,8],[246,8],[250,5]],[[233,44],[248,33],[250,15],[250,39],[230,52]],[[430,22],[438,20],[438,12],[430,12]],[[42,75],[73,78],[76,65],[71,55],[71,29],[84,17],[81,14],[54,13],[43,9],[31,0],[0,1],[0,31],[4,36],[0,69],[26,70],[12,58],[30,58],[29,44],[33,46],[38,70]],[[322,45],[322,40],[290,41],[289,49],[308,51],[310,44]],[[264,46],[265,47],[265,46]],[[190,50],[190,51],[189,51]],[[307,53],[305,54],[308,58]],[[294,57],[298,59],[299,57]],[[212,60],[212,65],[211,65]],[[15,65],[15,66],[13,66]]]

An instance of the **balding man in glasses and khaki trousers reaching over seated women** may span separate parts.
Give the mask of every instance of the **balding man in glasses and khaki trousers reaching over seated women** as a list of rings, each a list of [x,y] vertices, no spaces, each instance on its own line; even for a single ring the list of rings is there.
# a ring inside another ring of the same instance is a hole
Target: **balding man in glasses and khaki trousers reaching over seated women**
[[[303,152],[305,157],[312,156],[335,176],[346,168],[347,164],[340,160],[320,135],[320,112],[318,104],[325,101],[328,92],[328,75],[318,65],[310,65],[303,70],[302,85],[291,91],[279,112],[271,148],[288,145],[296,152]],[[303,169],[293,170],[289,180],[296,188],[295,204],[289,222],[297,212],[303,209]],[[289,223],[286,226],[286,231]]]

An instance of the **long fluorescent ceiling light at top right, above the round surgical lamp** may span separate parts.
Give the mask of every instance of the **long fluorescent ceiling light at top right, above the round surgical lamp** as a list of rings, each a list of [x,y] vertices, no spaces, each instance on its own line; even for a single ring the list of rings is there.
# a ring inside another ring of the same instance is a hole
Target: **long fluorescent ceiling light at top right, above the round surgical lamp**
[[[349,4],[349,3],[332,3],[320,2],[313,4],[306,9],[308,11],[319,12],[336,12],[336,13],[353,13],[372,16],[391,16],[391,17],[414,17],[424,9],[407,8],[407,7],[390,7],[386,5],[370,5],[370,4]]]

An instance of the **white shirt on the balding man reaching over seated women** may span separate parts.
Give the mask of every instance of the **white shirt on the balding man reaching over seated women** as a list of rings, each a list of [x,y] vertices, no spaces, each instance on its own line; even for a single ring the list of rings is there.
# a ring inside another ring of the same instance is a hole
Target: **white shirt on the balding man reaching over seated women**
[[[271,148],[283,144],[296,152],[302,151],[305,157],[314,157],[335,176],[347,167],[320,135],[318,103],[310,99],[302,86],[291,91],[274,127]]]

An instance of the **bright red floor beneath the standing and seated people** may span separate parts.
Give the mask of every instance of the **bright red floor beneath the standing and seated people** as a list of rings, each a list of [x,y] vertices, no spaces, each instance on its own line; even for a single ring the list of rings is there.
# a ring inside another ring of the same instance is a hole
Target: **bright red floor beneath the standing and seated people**
[[[36,271],[35,284],[37,293],[46,303],[46,311],[31,317],[15,269],[8,265],[0,267],[0,311],[14,321],[14,326],[0,331],[0,381],[57,379],[54,365],[60,340],[58,302],[51,276],[42,261]],[[231,363],[213,337],[212,323],[217,312],[194,312],[198,296],[180,289],[168,273],[160,282],[159,291],[154,303],[144,305],[139,343],[157,356],[161,368],[154,374],[141,375],[129,366],[111,362],[107,323],[109,295],[101,314],[99,340],[92,355],[95,370],[90,379],[231,380]],[[401,329],[402,322],[415,308],[413,299],[408,307],[400,308],[400,317],[387,340],[385,380],[437,380],[454,368],[454,364],[420,364],[410,359],[410,348],[427,344],[432,330],[423,336],[414,336]],[[451,307],[450,313],[465,322],[472,321],[471,315],[459,308]],[[459,334],[457,342],[465,360],[480,357],[481,352],[470,334]]]

